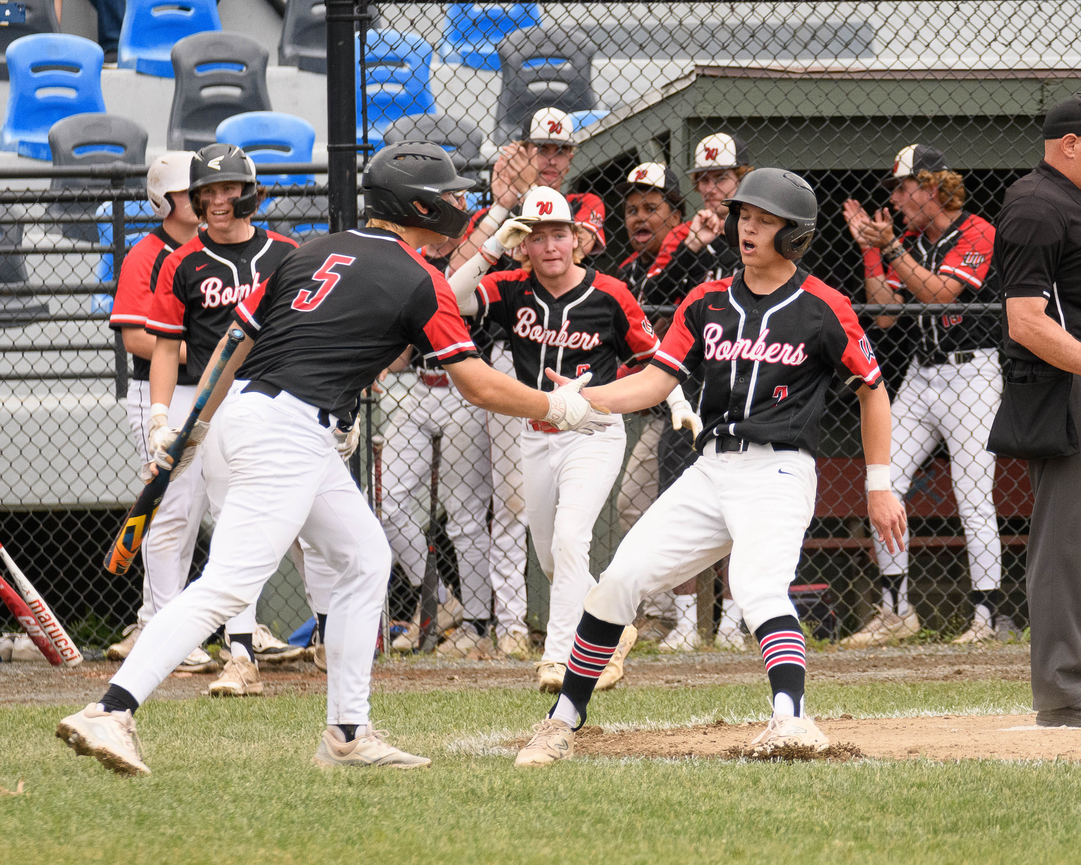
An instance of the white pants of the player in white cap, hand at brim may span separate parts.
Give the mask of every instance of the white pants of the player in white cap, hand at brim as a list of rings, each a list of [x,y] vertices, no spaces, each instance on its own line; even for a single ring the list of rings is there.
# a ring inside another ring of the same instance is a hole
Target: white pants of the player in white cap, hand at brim
[[[525,511],[537,560],[551,584],[544,660],[565,664],[582,602],[596,585],[589,572],[593,523],[623,468],[627,432],[623,417],[592,436],[537,432],[524,422],[523,427]]]

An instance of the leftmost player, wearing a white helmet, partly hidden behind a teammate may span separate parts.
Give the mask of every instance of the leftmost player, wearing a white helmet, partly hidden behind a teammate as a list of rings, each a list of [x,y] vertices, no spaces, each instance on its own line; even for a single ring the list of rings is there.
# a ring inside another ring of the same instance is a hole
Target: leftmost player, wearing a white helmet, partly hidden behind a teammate
[[[144,327],[154,302],[154,287],[161,265],[199,230],[199,217],[191,210],[187,195],[193,156],[187,150],[173,150],[150,163],[146,175],[146,192],[154,208],[154,215],[162,219],[162,224],[136,243],[124,257],[112,315],[109,317],[109,327],[121,332],[124,348],[134,358],[134,372],[128,390],[128,423],[132,428],[135,452],[139,455],[141,474],[144,476],[154,460],[154,451],[147,445],[147,436],[151,423],[150,358],[157,338],[147,333]],[[185,365],[186,343],[178,343],[176,348],[178,398],[175,400],[175,410],[168,418],[170,426],[184,423],[183,414],[195,399],[195,386],[199,381],[198,373],[188,372]],[[192,471],[171,483],[165,491],[150,531],[143,541],[143,606],[135,624],[124,628],[123,639],[109,647],[110,661],[123,661],[128,657],[150,617],[184,590],[199,535],[199,517],[206,509],[205,494],[201,488],[199,473]],[[198,511],[195,519],[189,518],[192,511]],[[204,673],[217,669],[217,664],[202,647],[197,647],[181,662],[177,669]]]

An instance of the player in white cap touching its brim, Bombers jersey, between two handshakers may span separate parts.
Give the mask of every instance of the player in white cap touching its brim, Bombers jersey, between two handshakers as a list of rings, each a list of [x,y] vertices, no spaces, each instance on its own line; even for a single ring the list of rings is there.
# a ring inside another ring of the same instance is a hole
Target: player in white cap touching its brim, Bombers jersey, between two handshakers
[[[659,343],[627,287],[578,264],[578,235],[563,196],[537,187],[522,202],[521,222],[507,229],[513,238],[506,245],[521,240],[522,267],[488,274],[479,285],[476,276],[466,278],[476,270],[462,268],[451,284],[464,315],[477,314],[481,323],[494,321],[507,334],[520,382],[550,390],[555,386],[544,375],[550,365],[574,377],[589,372],[592,381],[606,384],[615,381],[620,361],[642,364],[653,357]],[[588,439],[560,432],[550,424],[530,422],[519,437],[525,513],[537,559],[551,583],[537,686],[552,692],[563,680],[582,600],[593,586],[593,522],[623,467],[627,443],[622,417]],[[635,635],[628,627],[602,688],[622,678]]]

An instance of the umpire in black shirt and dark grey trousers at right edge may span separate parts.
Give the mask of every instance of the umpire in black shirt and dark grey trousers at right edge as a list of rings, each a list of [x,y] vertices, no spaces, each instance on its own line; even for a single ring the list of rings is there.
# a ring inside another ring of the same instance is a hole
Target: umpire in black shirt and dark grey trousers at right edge
[[[995,239],[1006,385],[990,450],[1029,458],[1032,704],[1081,727],[1081,95],[1043,124],[1044,158],[1006,191]]]

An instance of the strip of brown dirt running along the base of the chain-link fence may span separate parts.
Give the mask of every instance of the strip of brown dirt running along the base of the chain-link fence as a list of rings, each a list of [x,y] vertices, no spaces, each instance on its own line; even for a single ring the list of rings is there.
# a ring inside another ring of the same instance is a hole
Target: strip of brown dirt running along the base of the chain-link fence
[[[119,664],[84,662],[75,669],[54,669],[43,663],[0,664],[0,705],[79,704],[101,696]],[[631,655],[624,682],[629,686],[694,688],[762,682],[757,653],[702,652],[685,655]],[[308,663],[263,665],[265,693],[325,693],[326,677]],[[531,662],[439,662],[406,658],[379,662],[373,670],[374,690],[456,691],[534,687]],[[840,684],[918,681],[1028,681],[1027,646],[970,649],[951,646],[904,646],[856,652],[812,652],[808,679]],[[170,676],[155,692],[156,700],[186,700],[206,691],[210,675]],[[620,684],[623,687],[623,684]]]

